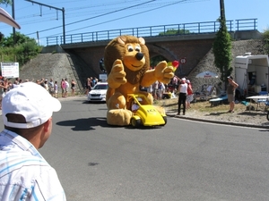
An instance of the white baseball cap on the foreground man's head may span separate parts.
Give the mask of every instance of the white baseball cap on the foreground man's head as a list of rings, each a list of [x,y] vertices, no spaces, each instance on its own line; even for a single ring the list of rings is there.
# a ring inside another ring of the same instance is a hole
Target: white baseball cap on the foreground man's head
[[[34,82],[24,82],[11,89],[2,100],[2,116],[4,125],[12,128],[29,129],[37,127],[58,112],[62,105],[48,91]],[[11,122],[6,114],[22,114],[26,123]]]

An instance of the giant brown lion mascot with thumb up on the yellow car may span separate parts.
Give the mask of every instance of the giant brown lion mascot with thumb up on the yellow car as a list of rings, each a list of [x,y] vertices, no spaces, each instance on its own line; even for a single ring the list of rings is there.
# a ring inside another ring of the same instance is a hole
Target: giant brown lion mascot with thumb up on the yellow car
[[[107,122],[110,125],[126,126],[132,118],[131,103],[127,94],[144,94],[153,103],[151,94],[141,91],[156,80],[169,83],[173,68],[165,61],[150,69],[149,50],[143,38],[120,36],[105,48],[104,63],[108,73]],[[143,103],[142,103],[143,104]]]

